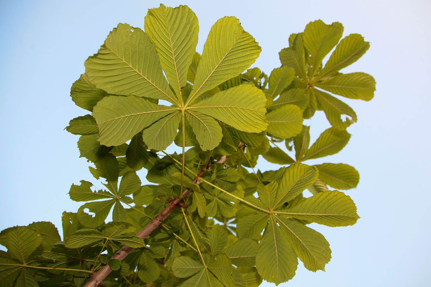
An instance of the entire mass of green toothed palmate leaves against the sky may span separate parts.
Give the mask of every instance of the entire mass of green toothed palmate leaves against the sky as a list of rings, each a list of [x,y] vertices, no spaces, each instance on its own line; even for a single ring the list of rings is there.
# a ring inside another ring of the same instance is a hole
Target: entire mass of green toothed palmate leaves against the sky
[[[2,286],[253,287],[293,278],[298,258],[325,270],[329,243],[307,225],[355,224],[356,206],[338,190],[356,187],[359,173],[303,162],[348,143],[356,114],[329,93],[371,100],[372,76],[339,72],[369,43],[340,41],[340,23],[310,22],[268,76],[249,69],[261,48],[235,17],[215,22],[201,54],[187,6],[149,9],[144,29],[119,24],[72,84],[91,114],[66,130],[80,135],[95,181],[70,187],[83,204],[63,213],[62,239],[50,222],[0,233]],[[316,110],[332,127],[310,146],[303,119]],[[181,154],[164,151],[172,143]],[[283,166],[263,172],[259,156]]]

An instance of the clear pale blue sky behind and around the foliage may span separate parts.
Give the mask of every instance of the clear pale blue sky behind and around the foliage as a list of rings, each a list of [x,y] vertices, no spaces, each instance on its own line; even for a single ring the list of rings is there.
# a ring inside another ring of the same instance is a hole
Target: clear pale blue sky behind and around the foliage
[[[119,22],[144,26],[148,8],[159,1],[1,1],[0,3],[0,230],[33,221],[61,228],[61,213],[75,212],[72,183],[96,182],[78,158],[78,136],[63,129],[87,112],[69,97],[96,53]],[[347,191],[361,216],[356,225],[315,225],[331,244],[326,272],[307,271],[279,286],[429,286],[431,2],[412,1],[165,1],[187,4],[199,18],[197,51],[212,24],[236,16],[262,53],[253,66],[266,73],[280,66],[287,37],[316,19],[341,22],[344,36],[359,33],[371,48],[342,72],[366,72],[377,81],[370,102],[346,100],[358,115],[348,128],[347,147],[307,163],[347,163],[360,173]],[[312,140],[327,128],[322,112],[312,123]],[[428,148],[427,148],[428,147]],[[273,169],[264,165],[264,169]],[[144,173],[140,174],[141,179]],[[61,230],[60,230],[61,234]],[[263,283],[262,286],[275,286]]]

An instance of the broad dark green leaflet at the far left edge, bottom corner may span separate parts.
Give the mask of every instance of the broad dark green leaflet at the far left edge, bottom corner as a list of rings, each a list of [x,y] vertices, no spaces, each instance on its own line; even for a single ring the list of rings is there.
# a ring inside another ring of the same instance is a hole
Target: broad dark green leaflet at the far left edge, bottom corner
[[[8,228],[5,235],[6,242],[1,244],[6,246],[7,253],[12,259],[22,263],[26,262],[28,256],[41,244],[43,238],[39,232],[26,226]]]

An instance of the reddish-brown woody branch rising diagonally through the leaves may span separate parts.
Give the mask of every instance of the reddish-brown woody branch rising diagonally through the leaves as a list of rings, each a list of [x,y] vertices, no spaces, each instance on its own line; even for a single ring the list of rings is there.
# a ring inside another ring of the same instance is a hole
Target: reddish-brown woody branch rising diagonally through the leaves
[[[226,161],[227,157],[222,156],[218,161],[214,163],[224,163]],[[208,163],[204,169],[202,169],[199,174],[194,178],[192,181],[195,184],[200,184],[202,181],[199,181],[198,178],[202,177],[203,173],[209,170],[211,167],[211,163]],[[183,197],[187,197],[190,194],[190,189],[186,188],[183,191]],[[163,209],[162,212],[160,212],[155,218],[151,219],[150,223],[147,224],[141,231],[139,231],[138,234],[136,234],[137,237],[140,237],[142,239],[146,238],[148,235],[150,235],[151,232],[153,232],[156,228],[159,227],[159,225],[162,224],[162,222],[178,207],[178,203],[182,200],[182,198],[179,198],[179,196],[172,200],[171,203],[166,206],[165,209]],[[115,253],[114,256],[111,257],[111,259],[119,259],[122,261],[132,250],[134,250],[133,247],[130,246],[123,246],[120,250]],[[106,264],[102,268],[100,268],[96,273],[94,273],[93,276],[91,276],[90,279],[88,279],[87,283],[85,283],[84,287],[97,287],[99,286],[102,281],[106,278],[106,276],[111,273],[112,269],[109,268],[109,265]]]

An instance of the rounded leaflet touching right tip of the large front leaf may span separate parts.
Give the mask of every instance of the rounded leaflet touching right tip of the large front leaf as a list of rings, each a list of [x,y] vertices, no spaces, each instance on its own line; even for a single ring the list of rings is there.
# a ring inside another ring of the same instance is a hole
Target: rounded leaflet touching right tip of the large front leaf
[[[298,106],[284,105],[266,115],[268,128],[266,130],[280,138],[290,138],[302,130],[302,112]]]

